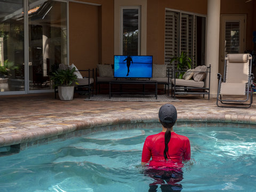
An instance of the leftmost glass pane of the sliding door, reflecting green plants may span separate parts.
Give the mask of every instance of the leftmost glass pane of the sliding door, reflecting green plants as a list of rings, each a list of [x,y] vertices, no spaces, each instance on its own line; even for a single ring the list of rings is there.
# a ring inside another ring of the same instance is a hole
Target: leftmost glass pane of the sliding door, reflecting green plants
[[[0,1],[0,91],[25,91],[23,0]]]

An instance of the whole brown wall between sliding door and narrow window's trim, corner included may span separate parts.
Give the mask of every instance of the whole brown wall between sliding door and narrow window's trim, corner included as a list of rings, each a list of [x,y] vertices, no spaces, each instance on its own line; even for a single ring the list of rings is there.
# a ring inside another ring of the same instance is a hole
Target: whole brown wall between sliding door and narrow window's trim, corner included
[[[69,3],[69,63],[79,69],[113,63],[114,0],[77,2]]]

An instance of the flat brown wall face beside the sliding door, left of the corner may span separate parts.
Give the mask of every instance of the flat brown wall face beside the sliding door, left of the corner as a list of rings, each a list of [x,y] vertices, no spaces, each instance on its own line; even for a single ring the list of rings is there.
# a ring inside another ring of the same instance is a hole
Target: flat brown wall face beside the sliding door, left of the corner
[[[69,3],[69,63],[78,69],[99,62],[99,7]]]

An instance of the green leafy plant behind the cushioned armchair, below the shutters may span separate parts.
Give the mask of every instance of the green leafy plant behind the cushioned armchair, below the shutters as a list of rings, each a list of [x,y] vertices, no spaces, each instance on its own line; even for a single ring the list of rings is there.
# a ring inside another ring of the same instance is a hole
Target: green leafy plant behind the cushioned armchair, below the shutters
[[[173,61],[177,61],[177,69],[179,71],[184,71],[181,73],[176,73],[177,78],[182,78],[182,76],[185,74],[185,71],[188,69],[191,69],[192,66],[192,59],[187,55],[186,52],[181,52],[180,56],[173,56],[170,60],[170,63]]]

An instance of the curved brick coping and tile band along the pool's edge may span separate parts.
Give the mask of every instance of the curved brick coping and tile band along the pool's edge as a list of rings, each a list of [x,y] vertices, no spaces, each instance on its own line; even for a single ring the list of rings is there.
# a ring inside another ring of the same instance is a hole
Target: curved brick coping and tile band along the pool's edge
[[[178,114],[175,126],[227,126],[256,129],[256,117],[252,115],[215,115],[215,114]],[[90,119],[52,124],[47,127],[37,127],[34,130],[21,130],[0,134],[0,147],[20,144],[24,150],[31,146],[46,145],[53,141],[62,141],[73,137],[99,132],[124,129],[151,129],[161,127],[157,114],[133,115],[117,117],[93,117]],[[175,127],[174,127],[175,130]]]

